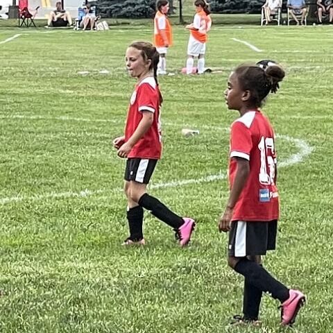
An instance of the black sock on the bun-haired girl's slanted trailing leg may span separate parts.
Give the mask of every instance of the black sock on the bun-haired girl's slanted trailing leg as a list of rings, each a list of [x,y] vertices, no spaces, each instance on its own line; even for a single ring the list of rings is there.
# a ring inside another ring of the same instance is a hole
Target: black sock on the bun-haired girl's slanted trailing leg
[[[253,286],[265,293],[271,293],[271,296],[277,298],[280,302],[284,302],[289,298],[289,289],[278,280],[275,280],[265,268],[256,262],[242,258],[234,266],[234,270],[243,275],[248,283],[253,284]]]

